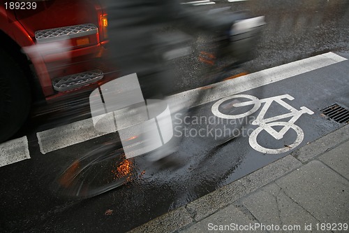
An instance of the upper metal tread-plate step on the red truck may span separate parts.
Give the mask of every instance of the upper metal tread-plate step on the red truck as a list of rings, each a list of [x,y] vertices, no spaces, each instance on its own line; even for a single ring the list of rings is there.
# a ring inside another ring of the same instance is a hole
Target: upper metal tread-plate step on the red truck
[[[97,33],[98,27],[95,24],[79,24],[35,31],[35,38],[37,43],[47,43]]]

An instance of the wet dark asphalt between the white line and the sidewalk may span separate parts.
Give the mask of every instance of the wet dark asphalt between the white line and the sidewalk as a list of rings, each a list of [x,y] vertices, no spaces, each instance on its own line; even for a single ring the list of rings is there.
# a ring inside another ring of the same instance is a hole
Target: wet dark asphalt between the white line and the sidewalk
[[[310,108],[313,115],[304,114],[296,122],[304,131],[302,146],[341,127],[341,124],[321,116],[320,111],[333,103],[348,106],[348,80],[345,78],[348,69],[348,61],[341,62],[241,94],[259,98],[290,94],[295,99],[286,101],[288,104],[296,109],[302,106]],[[334,73],[336,76],[327,78]],[[326,91],[311,91],[314,83],[317,83],[317,88]],[[195,122],[195,116],[212,116],[212,104],[210,102],[192,109],[188,113],[190,118],[187,118],[186,127],[232,127],[224,121],[216,126],[205,121]],[[269,108],[266,116],[284,112],[285,109],[276,104]],[[255,118],[258,113],[260,111],[251,115],[251,118]],[[245,126],[247,129],[256,128]],[[30,160],[1,167],[2,227],[6,231],[19,232],[126,232],[288,154],[260,153],[251,148],[246,136],[239,136],[216,147],[221,137],[215,140],[214,136],[184,137],[179,150],[170,156],[170,167],[149,163],[144,156],[135,157],[132,160],[134,176],[131,182],[82,201],[66,200],[57,195],[54,189],[55,176],[75,158],[100,147],[106,141],[117,140],[117,134],[107,134],[45,155],[40,154],[36,144],[31,144]],[[283,148],[295,141],[295,137],[295,132],[290,130],[281,141],[276,141],[262,132],[258,141],[266,147]],[[114,158],[103,162],[101,169],[110,169],[112,161]],[[105,176],[96,175],[96,181],[105,179]]]

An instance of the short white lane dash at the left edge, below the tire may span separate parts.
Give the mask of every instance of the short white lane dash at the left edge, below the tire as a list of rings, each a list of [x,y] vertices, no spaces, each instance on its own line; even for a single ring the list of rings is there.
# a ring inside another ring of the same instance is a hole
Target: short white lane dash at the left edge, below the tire
[[[0,144],[0,167],[27,159],[30,159],[27,136]]]

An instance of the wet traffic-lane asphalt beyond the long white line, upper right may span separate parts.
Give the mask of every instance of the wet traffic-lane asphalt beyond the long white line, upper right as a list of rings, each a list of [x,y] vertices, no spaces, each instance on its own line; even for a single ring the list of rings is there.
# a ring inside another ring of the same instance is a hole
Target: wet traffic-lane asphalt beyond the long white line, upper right
[[[233,11],[248,9],[251,16],[265,15],[267,25],[258,44],[257,57],[246,64],[245,69],[250,73],[323,52],[348,51],[349,1],[216,1],[200,8],[227,6],[232,6]],[[179,69],[174,85],[178,91],[200,87],[197,56],[205,43],[200,37],[195,42],[193,55],[176,61]]]

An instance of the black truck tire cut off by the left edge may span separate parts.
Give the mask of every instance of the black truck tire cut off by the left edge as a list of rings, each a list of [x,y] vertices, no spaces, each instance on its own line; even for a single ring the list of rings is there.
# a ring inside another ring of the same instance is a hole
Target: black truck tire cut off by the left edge
[[[13,136],[27,120],[31,106],[28,80],[15,59],[0,49],[0,143]]]

